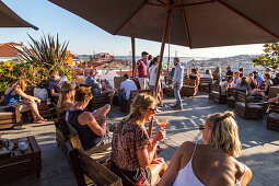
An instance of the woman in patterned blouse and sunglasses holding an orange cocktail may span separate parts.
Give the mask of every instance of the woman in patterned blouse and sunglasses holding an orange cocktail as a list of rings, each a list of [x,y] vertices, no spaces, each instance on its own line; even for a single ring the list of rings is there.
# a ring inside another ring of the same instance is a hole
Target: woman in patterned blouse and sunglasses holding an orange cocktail
[[[158,143],[164,139],[165,131],[159,130],[150,140],[144,128],[144,123],[154,115],[155,105],[153,96],[138,94],[130,105],[130,114],[114,131],[112,171],[123,179],[123,185],[135,185],[141,176],[153,185],[165,172],[164,160],[155,158]]]

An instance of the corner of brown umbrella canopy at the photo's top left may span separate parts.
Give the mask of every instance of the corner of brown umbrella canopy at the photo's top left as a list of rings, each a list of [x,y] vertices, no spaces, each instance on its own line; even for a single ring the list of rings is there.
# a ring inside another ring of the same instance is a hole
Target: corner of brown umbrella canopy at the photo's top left
[[[32,27],[38,30],[36,26],[21,19],[2,1],[0,1],[0,27]]]

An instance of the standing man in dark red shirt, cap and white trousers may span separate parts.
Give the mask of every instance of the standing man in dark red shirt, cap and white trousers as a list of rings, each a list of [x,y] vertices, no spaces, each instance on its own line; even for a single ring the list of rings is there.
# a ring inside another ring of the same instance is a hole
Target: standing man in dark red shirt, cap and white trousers
[[[141,53],[141,59],[137,61],[137,65],[133,70],[132,78],[136,78],[138,71],[138,81],[141,90],[146,90],[148,85],[148,53]]]

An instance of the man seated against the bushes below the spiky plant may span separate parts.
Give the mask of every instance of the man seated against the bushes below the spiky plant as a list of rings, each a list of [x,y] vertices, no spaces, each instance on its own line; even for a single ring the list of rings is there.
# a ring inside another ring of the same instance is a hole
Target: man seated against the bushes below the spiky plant
[[[49,82],[50,98],[53,103],[57,104],[61,92],[61,85],[65,81],[68,81],[68,78],[66,75],[59,77],[59,72],[57,70],[50,72],[50,78],[51,78],[51,81]]]

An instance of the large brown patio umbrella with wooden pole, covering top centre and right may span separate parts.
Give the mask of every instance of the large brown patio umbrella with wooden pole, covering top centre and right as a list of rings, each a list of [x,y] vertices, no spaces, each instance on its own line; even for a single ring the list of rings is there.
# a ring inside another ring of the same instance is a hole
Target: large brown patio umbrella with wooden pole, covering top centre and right
[[[49,0],[113,35],[190,48],[277,42],[278,0]],[[156,74],[155,89],[160,70]],[[156,94],[156,92],[155,92]],[[149,133],[151,135],[152,125]]]

